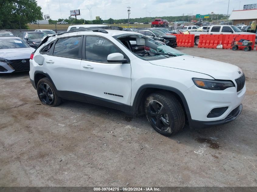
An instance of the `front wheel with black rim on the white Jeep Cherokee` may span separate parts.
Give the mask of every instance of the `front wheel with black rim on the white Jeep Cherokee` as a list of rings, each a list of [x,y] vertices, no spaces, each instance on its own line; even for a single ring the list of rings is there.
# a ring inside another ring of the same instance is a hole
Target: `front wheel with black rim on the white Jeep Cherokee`
[[[185,113],[178,99],[169,92],[151,93],[144,103],[151,126],[162,135],[178,133],[185,125]]]

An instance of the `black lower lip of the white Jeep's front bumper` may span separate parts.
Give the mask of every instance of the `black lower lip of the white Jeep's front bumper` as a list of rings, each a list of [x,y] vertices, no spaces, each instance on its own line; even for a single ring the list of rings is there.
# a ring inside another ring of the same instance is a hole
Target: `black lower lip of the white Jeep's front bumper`
[[[229,122],[235,120],[242,112],[242,109],[243,109],[243,105],[240,104],[238,107],[236,107],[234,110],[232,110],[231,113],[223,120],[217,120],[217,121],[189,120],[189,126],[193,127],[193,128],[206,128],[206,127],[224,125],[226,123],[229,123]]]

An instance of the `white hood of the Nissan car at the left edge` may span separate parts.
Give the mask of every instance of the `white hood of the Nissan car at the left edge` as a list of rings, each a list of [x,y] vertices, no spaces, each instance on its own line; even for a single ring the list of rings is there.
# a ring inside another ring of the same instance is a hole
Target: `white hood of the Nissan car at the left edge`
[[[15,48],[15,49],[0,49],[0,57],[8,60],[12,59],[28,59],[30,54],[34,52],[35,49],[32,47],[28,48]]]

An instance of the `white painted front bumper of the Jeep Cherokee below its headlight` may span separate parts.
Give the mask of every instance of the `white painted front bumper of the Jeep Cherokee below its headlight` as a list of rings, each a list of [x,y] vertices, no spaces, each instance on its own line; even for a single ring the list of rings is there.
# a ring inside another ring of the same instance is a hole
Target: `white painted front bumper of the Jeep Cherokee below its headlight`
[[[196,122],[210,122],[210,124],[227,120],[230,113],[242,103],[246,91],[246,86],[237,92],[236,87],[230,87],[225,90],[208,90],[192,86],[187,89],[183,95],[188,104],[190,120]],[[227,110],[220,116],[207,117],[208,114],[216,108],[227,107]],[[208,123],[205,123],[208,124]]]

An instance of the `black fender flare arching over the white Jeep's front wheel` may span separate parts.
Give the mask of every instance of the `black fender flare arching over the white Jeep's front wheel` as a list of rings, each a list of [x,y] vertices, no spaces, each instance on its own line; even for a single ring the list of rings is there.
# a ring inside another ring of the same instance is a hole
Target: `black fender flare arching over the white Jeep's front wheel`
[[[182,101],[182,104],[184,106],[184,109],[185,109],[185,112],[186,112],[188,120],[191,120],[191,115],[190,115],[189,107],[188,107],[186,98],[183,95],[183,93],[181,91],[179,91],[179,89],[176,89],[174,87],[164,86],[164,85],[155,85],[155,84],[145,84],[145,85],[142,85],[137,90],[137,93],[136,93],[134,101],[133,101],[133,105],[130,107],[130,113],[137,114],[138,104],[140,103],[141,97],[144,94],[144,89],[146,89],[146,88],[162,89],[162,90],[167,90],[167,91],[171,91],[171,92],[176,93],[179,96],[179,98],[181,99],[181,101]]]

